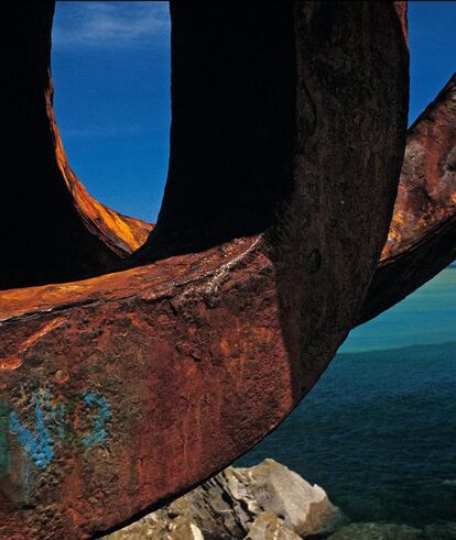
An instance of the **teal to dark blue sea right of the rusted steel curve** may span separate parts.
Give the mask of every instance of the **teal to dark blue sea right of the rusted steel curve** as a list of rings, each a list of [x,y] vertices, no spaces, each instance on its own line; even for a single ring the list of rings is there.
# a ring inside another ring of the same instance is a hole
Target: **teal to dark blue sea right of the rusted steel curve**
[[[355,329],[236,464],[264,458],[321,485],[354,521],[456,521],[456,267]]]

